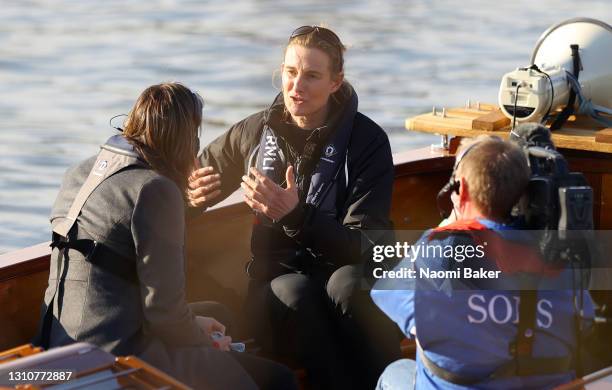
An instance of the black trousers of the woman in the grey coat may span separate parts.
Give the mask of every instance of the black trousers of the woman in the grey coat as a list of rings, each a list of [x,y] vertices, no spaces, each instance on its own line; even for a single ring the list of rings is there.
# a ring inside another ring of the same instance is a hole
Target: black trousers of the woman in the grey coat
[[[226,333],[231,335],[235,324],[233,313],[224,305],[211,302],[194,302],[189,307],[195,315],[213,317],[226,327]],[[297,389],[297,381],[293,371],[282,364],[251,355],[247,352],[227,352],[247,372],[260,389],[291,390]],[[232,375],[231,373],[220,373]]]

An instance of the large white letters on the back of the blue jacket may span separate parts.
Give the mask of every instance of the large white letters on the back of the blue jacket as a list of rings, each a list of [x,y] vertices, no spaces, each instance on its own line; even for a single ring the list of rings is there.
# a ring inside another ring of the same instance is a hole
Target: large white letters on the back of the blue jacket
[[[507,324],[519,322],[520,297],[508,297],[506,295],[494,295],[487,302],[487,297],[482,294],[472,294],[468,298],[468,307],[471,313],[467,319],[470,324],[482,324],[488,320],[496,324]],[[536,323],[539,328],[548,329],[552,326],[552,302],[548,299],[538,300],[536,306]]]

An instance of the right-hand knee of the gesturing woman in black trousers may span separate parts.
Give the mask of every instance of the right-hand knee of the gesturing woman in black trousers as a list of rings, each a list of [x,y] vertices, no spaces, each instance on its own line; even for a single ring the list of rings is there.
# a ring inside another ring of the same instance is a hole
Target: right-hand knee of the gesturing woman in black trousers
[[[334,306],[343,314],[352,307],[367,291],[362,289],[362,270],[359,265],[345,265],[338,268],[327,281],[327,295]]]

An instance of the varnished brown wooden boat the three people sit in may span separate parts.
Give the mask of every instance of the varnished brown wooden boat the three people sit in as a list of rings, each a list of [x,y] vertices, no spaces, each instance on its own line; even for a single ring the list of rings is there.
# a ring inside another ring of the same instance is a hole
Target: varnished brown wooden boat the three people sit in
[[[396,229],[419,230],[436,225],[436,194],[447,182],[453,153],[461,137],[495,134],[507,137],[510,121],[496,106],[478,104],[435,110],[408,119],[412,131],[442,134],[448,148],[421,148],[394,155],[395,182],[391,218]],[[553,134],[570,168],[585,174],[594,192],[594,222],[612,229],[612,129],[585,118],[570,118]],[[203,215],[188,221],[187,298],[217,300],[239,310],[245,297],[244,265],[250,258],[253,216],[236,193]],[[0,256],[0,350],[29,342],[39,320],[47,285],[48,243]]]

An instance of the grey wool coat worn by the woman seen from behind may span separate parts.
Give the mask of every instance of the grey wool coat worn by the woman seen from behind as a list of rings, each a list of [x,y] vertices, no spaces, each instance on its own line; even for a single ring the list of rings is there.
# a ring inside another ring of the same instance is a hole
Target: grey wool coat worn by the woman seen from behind
[[[95,160],[66,172],[53,226],[68,214]],[[91,258],[65,250],[49,347],[84,341],[115,355],[139,356],[196,388],[255,388],[229,354],[210,346],[185,301],[184,225],[183,197],[167,177],[129,166],[104,180],[69,234],[103,246]],[[56,290],[60,260],[55,248],[43,313]]]

